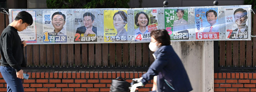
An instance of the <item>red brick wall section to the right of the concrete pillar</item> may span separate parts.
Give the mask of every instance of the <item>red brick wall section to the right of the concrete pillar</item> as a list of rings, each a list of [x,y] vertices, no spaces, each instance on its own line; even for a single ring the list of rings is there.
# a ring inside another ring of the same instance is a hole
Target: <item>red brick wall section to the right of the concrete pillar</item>
[[[256,73],[214,73],[214,92],[256,92]]]

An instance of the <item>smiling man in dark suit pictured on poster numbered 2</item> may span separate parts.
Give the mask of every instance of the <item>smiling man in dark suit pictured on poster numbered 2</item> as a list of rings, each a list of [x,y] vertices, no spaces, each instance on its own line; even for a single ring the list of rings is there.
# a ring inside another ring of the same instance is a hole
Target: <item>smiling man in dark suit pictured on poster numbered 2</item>
[[[95,16],[90,12],[85,12],[83,14],[83,25],[82,27],[78,27],[76,29],[76,33],[78,34],[97,34],[97,28],[93,26]]]

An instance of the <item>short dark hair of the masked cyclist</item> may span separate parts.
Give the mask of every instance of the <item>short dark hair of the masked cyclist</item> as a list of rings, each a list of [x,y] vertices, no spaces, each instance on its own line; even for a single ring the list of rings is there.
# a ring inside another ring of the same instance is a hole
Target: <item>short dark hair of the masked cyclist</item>
[[[166,46],[171,44],[171,38],[165,29],[153,30],[150,32],[150,36],[154,37],[157,42],[161,43],[161,46]]]

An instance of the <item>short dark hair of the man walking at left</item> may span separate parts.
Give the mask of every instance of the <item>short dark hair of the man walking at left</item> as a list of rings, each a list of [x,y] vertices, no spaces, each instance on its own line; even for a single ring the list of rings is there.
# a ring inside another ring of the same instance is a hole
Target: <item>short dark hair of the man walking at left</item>
[[[21,11],[17,14],[15,20],[18,21],[19,19],[22,19],[22,23],[27,23],[29,26],[33,24],[33,18],[31,14],[26,11]]]

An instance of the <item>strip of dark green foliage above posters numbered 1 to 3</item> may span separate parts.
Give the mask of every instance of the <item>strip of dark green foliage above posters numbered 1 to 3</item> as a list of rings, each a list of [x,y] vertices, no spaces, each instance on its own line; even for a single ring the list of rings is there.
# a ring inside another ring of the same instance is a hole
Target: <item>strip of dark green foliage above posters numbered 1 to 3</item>
[[[130,0],[46,0],[50,9],[129,8]]]

